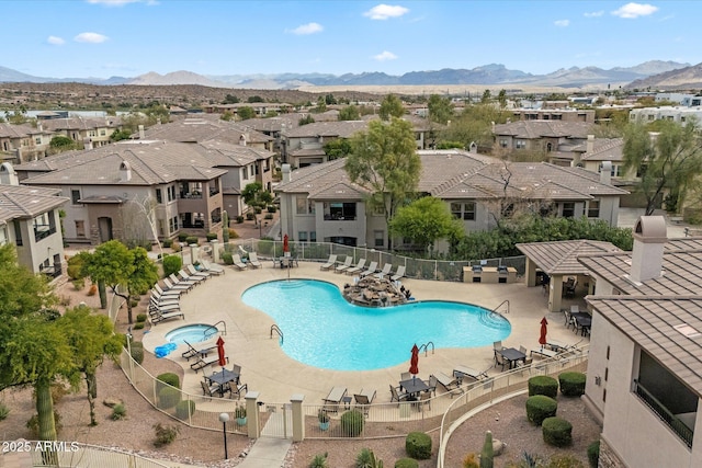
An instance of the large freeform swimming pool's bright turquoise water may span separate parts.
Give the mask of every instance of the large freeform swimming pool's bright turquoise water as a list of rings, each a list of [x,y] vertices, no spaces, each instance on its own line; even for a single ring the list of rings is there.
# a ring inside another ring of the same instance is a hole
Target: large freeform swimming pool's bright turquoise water
[[[437,349],[485,346],[511,332],[509,321],[478,306],[429,300],[366,308],[349,304],[336,285],[314,279],[259,284],[241,299],[273,318],[288,356],[336,370],[409,362],[415,343],[431,341]]]

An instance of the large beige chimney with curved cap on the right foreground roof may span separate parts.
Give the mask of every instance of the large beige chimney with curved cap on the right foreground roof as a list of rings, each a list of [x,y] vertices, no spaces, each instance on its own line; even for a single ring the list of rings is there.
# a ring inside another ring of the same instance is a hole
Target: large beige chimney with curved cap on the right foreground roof
[[[663,252],[666,242],[666,218],[663,216],[642,216],[634,226],[634,249],[632,250],[632,270],[630,279],[643,283],[660,277],[663,273]]]

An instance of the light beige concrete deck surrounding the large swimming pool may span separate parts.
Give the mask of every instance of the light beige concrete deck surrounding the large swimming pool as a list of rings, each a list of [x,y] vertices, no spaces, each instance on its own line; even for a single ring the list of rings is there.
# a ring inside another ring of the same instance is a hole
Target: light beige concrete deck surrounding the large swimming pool
[[[356,372],[310,367],[288,357],[281,350],[278,335],[273,335],[272,339],[270,336],[273,320],[265,313],[245,305],[240,299],[247,288],[263,282],[286,279],[288,273],[291,278],[327,281],[341,289],[344,284],[352,283],[353,277],[320,271],[321,263],[301,262],[298,267],[290,271],[274,269],[271,261],[262,261],[262,269],[242,272],[226,266],[226,274],[213,276],[204,284],[195,286],[189,294],[182,295],[181,309],[185,313],[185,319],[168,320],[151,327],[150,331],[144,334],[145,347],[152,352],[156,346],[165,344],[166,333],[176,328],[193,323],[214,324],[224,320],[227,332],[223,339],[229,358],[228,367],[231,364],[241,366],[241,383],[247,384],[249,390],[259,391],[260,401],[284,403],[288,402],[294,393],[303,393],[305,402],[321,403],[321,399],[332,387],[342,386],[348,389],[350,396],[362,388],[375,389],[377,391],[375,402],[388,402],[390,400],[388,386],[390,384],[397,386],[400,373],[409,369],[410,350],[407,350],[406,363],[384,369]],[[417,300],[456,300],[487,309],[495,309],[503,300],[509,300],[510,310],[509,313],[505,313],[505,317],[510,321],[512,332],[502,340],[502,344],[508,347],[519,349],[520,345],[528,350],[539,347],[540,323],[543,317],[546,317],[550,323],[550,338],[568,344],[575,344],[581,340],[580,335],[565,328],[562,313],[546,311],[547,298],[543,295],[541,287],[526,287],[523,282],[479,284],[412,278],[404,278],[403,284],[412,292]],[[569,308],[569,304],[579,304],[580,307],[585,307],[581,298],[564,303],[563,307]],[[498,310],[505,312],[506,306]],[[223,329],[222,326],[219,329]],[[342,339],[340,336],[340,340]],[[203,372],[195,374],[185,358],[181,357],[185,349],[185,345],[180,345],[166,358],[183,366],[183,390],[202,395],[200,381],[203,378]],[[216,356],[216,352],[214,355]],[[428,356],[424,356],[423,352],[420,354],[418,377],[428,379],[430,374],[437,372],[451,375],[454,365],[469,366],[479,370],[490,367],[490,375],[499,374],[500,368],[491,367],[492,363],[491,344],[473,349],[438,349],[433,354],[430,351]],[[206,367],[205,373],[210,374],[217,367],[216,365]]]

